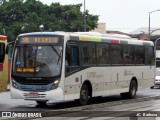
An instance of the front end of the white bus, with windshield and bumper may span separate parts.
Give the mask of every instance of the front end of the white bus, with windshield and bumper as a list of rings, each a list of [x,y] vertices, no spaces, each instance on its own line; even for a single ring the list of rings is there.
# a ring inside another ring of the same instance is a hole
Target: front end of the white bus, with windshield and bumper
[[[12,98],[35,100],[39,104],[49,99],[63,99],[62,90],[58,88],[62,39],[63,36],[47,32],[18,36],[12,59]]]

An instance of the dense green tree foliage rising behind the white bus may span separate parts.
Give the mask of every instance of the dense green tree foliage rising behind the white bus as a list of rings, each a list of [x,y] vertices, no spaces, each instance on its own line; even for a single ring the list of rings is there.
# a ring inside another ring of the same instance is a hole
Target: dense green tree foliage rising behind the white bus
[[[0,3],[0,34],[14,41],[18,34],[40,31],[83,31],[82,4],[50,6],[37,0],[2,0]],[[86,11],[87,31],[97,27],[98,16]]]

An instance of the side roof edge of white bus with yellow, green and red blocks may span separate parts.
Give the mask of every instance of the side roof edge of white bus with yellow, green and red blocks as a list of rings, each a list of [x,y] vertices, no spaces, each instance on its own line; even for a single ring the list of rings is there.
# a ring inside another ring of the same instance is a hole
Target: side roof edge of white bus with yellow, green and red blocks
[[[115,44],[132,44],[132,45],[148,45],[154,46],[152,41],[138,40],[135,38],[114,35],[114,34],[82,34],[82,33],[72,33],[70,34],[71,40],[80,40],[80,41],[93,41],[93,42],[106,42],[106,43],[115,43]]]

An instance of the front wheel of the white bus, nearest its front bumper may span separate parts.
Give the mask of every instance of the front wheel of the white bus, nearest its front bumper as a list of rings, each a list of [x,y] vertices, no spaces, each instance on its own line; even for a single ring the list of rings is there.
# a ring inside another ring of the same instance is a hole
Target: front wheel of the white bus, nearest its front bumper
[[[80,91],[80,99],[79,99],[79,104],[80,105],[86,105],[89,100],[89,92],[88,92],[88,87],[87,85],[83,85]]]

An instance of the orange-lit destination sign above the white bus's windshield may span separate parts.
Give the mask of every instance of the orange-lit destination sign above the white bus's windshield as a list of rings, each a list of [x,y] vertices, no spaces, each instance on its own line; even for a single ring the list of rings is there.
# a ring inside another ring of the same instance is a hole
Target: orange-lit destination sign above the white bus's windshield
[[[31,43],[59,43],[59,37],[48,36],[48,37],[20,37],[19,43],[31,44]]]

